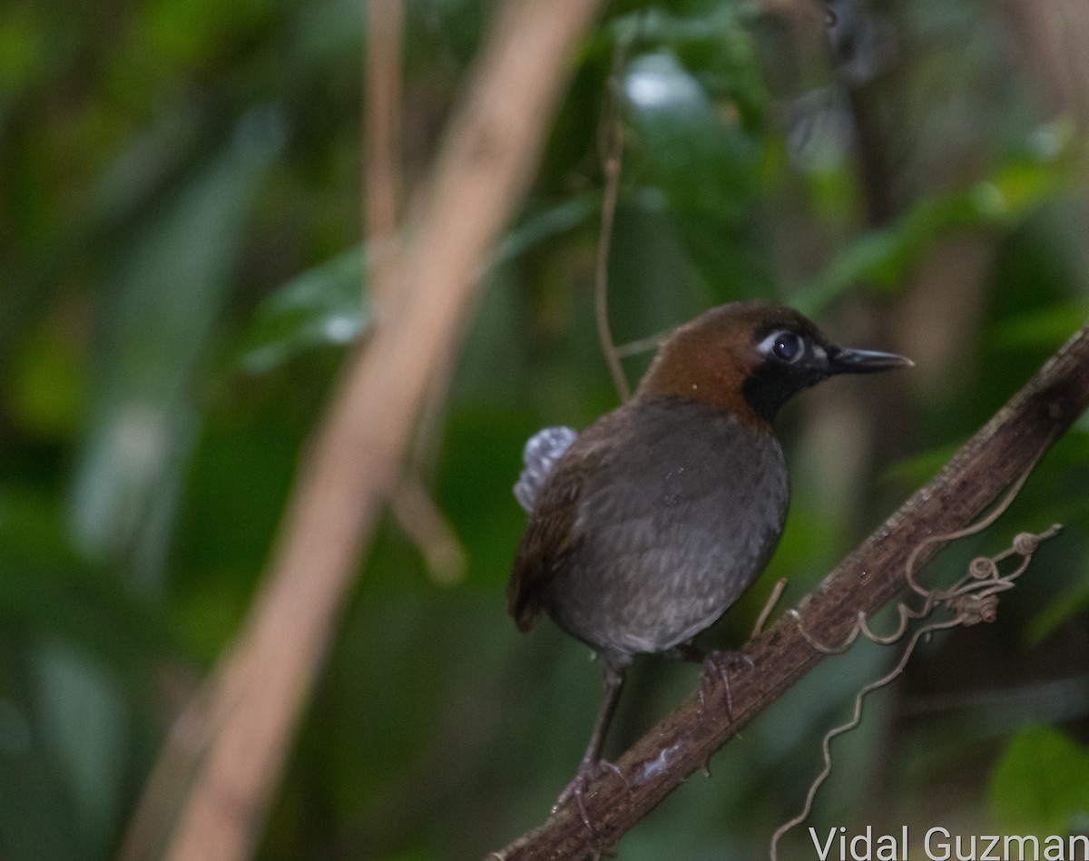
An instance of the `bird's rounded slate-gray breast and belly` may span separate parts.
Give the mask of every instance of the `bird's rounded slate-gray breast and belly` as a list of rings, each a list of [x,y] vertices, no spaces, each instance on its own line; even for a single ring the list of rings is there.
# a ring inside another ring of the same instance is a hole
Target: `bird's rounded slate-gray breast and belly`
[[[614,661],[718,619],[768,564],[788,496],[770,432],[702,404],[635,409],[628,431],[602,442],[546,595],[562,628]]]

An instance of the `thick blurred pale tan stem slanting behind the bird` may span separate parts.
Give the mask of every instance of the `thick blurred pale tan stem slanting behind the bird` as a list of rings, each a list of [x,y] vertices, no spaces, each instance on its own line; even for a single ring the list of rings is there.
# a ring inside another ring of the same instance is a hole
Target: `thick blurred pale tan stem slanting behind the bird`
[[[500,14],[210,705],[183,716],[199,718],[187,733],[201,749],[168,848],[172,861],[237,861],[253,848],[358,553],[396,487],[428,381],[451,360],[488,249],[534,174],[573,46],[599,4],[512,0]]]

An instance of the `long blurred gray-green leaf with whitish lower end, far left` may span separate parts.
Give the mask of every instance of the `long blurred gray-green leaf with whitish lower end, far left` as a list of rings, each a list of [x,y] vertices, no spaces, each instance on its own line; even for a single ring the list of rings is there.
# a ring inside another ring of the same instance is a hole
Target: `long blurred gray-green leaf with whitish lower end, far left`
[[[114,276],[72,513],[82,546],[124,559],[142,588],[159,586],[196,430],[187,383],[205,359],[246,216],[282,132],[271,109],[241,118],[211,162],[142,225]]]

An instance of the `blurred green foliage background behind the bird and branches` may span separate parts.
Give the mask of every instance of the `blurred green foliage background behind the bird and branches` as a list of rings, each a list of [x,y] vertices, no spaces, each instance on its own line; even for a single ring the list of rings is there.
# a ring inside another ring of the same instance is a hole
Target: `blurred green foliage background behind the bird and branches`
[[[412,464],[464,577],[445,582],[383,524],[258,858],[480,856],[536,824],[577,763],[597,669],[549,625],[518,635],[504,590],[524,440],[616,403],[592,311],[615,45],[616,340],[763,297],[918,364],[784,413],[791,519],[708,638],[725,645],[776,578],[785,601],[804,594],[1087,316],[1089,81],[1055,96],[1015,5],[837,2],[846,47],[831,54],[756,3],[608,8]],[[406,3],[409,188],[492,8]],[[248,606],[344,345],[368,324],[365,33],[344,0],[0,12],[0,858],[117,852],[172,717]],[[646,360],[626,360],[631,379]],[[1066,524],[995,625],[939,637],[869,703],[835,748],[819,833],[1089,829],[1070,766],[1089,755],[1087,430],[998,526],[931,566],[951,580],[1016,531]],[[762,857],[824,729],[894,660],[866,644],[825,662],[623,857]],[[610,749],[695,672],[640,662]]]

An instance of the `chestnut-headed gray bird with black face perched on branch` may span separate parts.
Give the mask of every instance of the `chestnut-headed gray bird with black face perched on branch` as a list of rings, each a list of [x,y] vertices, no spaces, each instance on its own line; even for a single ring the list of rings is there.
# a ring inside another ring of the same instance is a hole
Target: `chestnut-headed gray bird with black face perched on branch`
[[[529,630],[540,613],[588,645],[604,698],[574,779],[585,795],[604,771],[609,723],[635,655],[702,660],[701,698],[736,652],[702,654],[714,624],[771,559],[790,497],[772,430],[794,394],[835,374],[911,365],[894,353],[834,345],[788,307],[736,302],[705,311],[659,344],[635,394],[580,433],[546,428],[526,443],[514,488],[528,513],[507,605]],[[705,706],[706,706],[706,699]]]

